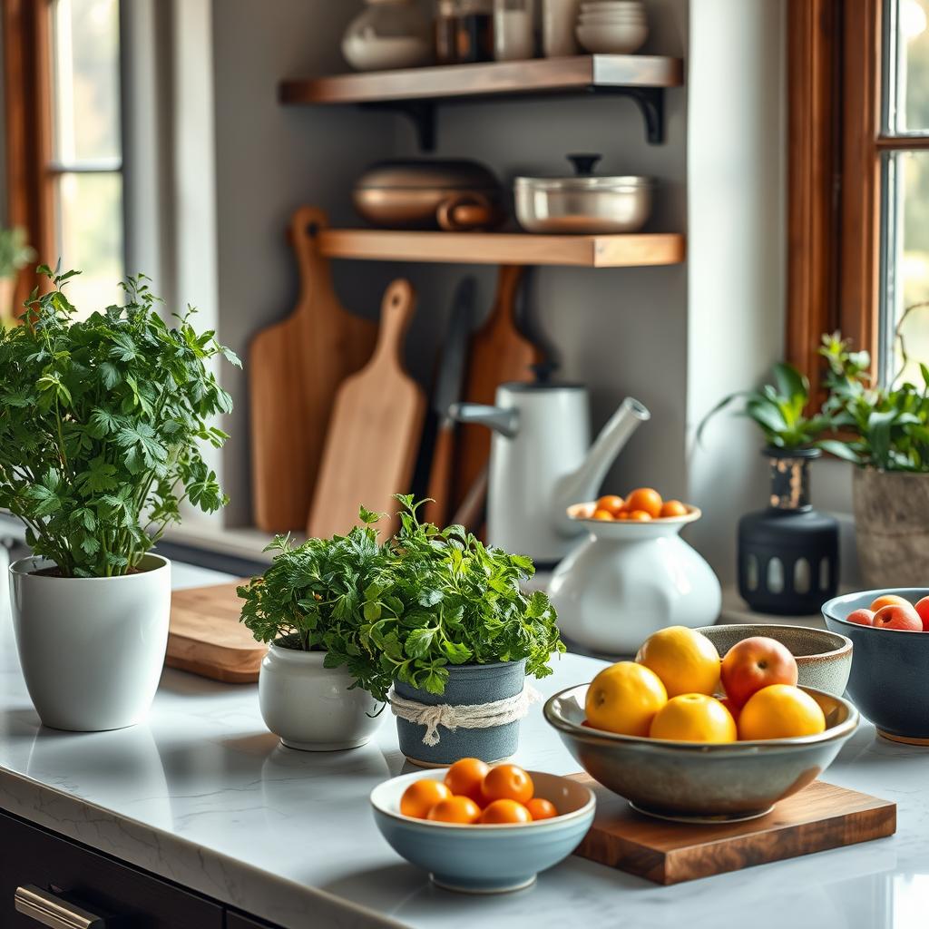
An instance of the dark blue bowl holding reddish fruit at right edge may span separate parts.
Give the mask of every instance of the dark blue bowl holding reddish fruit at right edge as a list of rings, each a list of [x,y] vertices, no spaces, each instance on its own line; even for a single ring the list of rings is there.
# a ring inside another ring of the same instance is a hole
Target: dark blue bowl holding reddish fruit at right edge
[[[885,739],[929,745],[929,633],[875,629],[847,622],[853,610],[869,608],[884,594],[910,603],[929,595],[929,587],[896,587],[837,596],[823,605],[833,633],[855,645],[848,695]]]

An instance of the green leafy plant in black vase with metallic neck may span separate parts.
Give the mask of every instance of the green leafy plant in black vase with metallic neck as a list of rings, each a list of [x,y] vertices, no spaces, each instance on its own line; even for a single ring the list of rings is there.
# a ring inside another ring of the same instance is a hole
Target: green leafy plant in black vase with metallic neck
[[[742,402],[742,414],[765,436],[762,454],[771,472],[764,510],[739,520],[739,594],[762,613],[805,615],[835,595],[839,528],[810,502],[809,464],[826,445],[829,413],[807,416],[809,382],[790,364],[774,366],[774,384],[723,399],[700,424],[698,439],[714,413]]]

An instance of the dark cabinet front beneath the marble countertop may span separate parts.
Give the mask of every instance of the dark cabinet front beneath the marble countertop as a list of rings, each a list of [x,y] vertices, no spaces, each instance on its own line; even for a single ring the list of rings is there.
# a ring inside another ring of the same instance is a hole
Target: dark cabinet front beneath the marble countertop
[[[17,911],[17,888],[23,888],[20,906],[33,915]],[[55,907],[101,917],[106,929],[223,929],[223,908],[212,900],[0,814],[0,926],[54,924],[39,916],[43,908]]]

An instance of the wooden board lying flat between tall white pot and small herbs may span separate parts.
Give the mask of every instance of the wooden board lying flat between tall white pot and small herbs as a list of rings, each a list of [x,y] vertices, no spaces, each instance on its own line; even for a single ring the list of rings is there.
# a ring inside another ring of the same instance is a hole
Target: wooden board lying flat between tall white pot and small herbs
[[[226,684],[254,684],[268,647],[239,622],[245,581],[176,590],[164,663]]]

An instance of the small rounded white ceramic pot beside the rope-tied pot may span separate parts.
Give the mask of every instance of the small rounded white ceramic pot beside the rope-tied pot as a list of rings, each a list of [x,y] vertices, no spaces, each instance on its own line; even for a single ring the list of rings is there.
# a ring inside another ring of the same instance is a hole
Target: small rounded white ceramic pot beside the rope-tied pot
[[[336,752],[371,739],[386,713],[367,690],[349,689],[346,668],[324,668],[324,651],[271,643],[261,662],[258,702],[265,726],[290,749]]]

